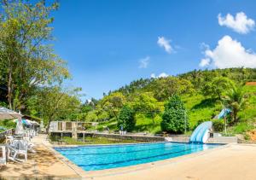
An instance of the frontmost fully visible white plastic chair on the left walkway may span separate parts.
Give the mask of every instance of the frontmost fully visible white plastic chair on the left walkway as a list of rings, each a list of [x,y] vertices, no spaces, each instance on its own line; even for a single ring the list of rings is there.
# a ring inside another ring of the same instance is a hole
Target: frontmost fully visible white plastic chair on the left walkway
[[[26,162],[27,160],[27,144],[24,140],[14,140],[13,143],[8,145],[8,159],[15,162]],[[24,160],[21,160],[18,156],[23,155]]]

